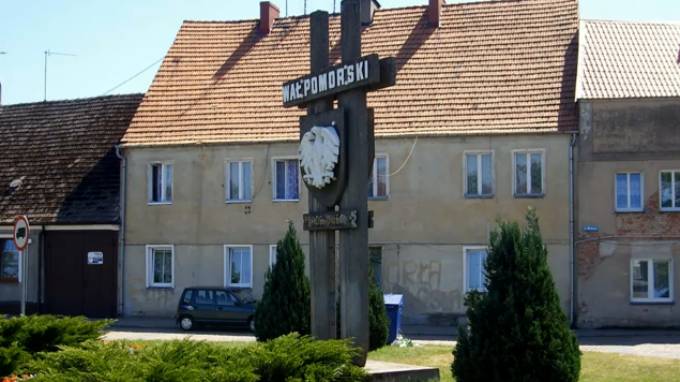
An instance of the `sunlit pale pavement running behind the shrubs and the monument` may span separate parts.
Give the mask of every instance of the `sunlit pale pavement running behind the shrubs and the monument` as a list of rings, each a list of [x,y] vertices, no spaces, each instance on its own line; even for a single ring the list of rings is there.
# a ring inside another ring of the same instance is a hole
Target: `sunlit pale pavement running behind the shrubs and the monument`
[[[624,355],[658,357],[680,360],[680,331],[579,331],[581,351],[618,353]],[[418,336],[417,338],[423,338]],[[255,337],[249,332],[194,331],[182,332],[176,329],[152,329],[117,327],[109,331],[105,340],[181,340],[212,342],[252,342]],[[449,338],[413,340],[416,346],[439,345],[453,348],[455,341]]]

